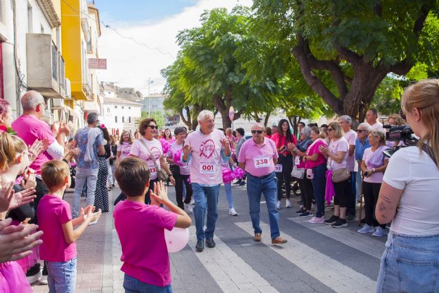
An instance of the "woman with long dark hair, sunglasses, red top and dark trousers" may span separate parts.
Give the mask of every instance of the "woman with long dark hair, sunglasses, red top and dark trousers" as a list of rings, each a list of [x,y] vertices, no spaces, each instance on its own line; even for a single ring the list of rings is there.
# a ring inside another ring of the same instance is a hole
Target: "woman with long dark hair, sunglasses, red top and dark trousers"
[[[281,119],[278,123],[278,132],[272,135],[272,140],[276,143],[276,150],[279,159],[276,165],[277,178],[277,203],[276,208],[281,209],[282,185],[285,183],[287,199],[285,207],[291,207],[289,198],[291,197],[291,172],[293,170],[293,154],[287,148],[288,143],[297,144],[296,137],[291,133],[287,119]]]

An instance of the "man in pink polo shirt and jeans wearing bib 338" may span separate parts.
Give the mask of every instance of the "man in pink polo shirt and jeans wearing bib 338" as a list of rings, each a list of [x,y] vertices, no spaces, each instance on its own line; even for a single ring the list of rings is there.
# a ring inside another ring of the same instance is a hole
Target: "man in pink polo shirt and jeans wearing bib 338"
[[[272,244],[283,244],[287,240],[280,236],[279,231],[279,212],[276,209],[277,182],[274,174],[278,153],[276,144],[264,137],[264,132],[265,128],[262,124],[257,123],[252,126],[252,139],[248,139],[241,146],[238,163],[239,167],[247,172],[248,205],[254,228],[254,241],[261,241],[259,210],[261,193],[263,193],[267,202]]]

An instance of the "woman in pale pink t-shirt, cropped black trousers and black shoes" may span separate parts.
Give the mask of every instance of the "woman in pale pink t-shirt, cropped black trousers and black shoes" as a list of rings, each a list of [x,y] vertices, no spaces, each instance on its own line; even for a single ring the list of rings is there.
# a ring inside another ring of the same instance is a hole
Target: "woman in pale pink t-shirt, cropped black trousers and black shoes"
[[[332,172],[338,169],[346,169],[348,166],[348,141],[343,137],[342,126],[338,122],[333,122],[328,126],[329,138],[331,143],[325,148],[320,145],[319,150],[328,158],[327,167]],[[346,169],[347,170],[347,169]],[[346,171],[347,172],[347,171]],[[351,177],[339,182],[333,183],[335,189],[334,196],[334,214],[324,224],[332,225],[333,228],[348,226],[346,222],[346,205],[348,196],[351,192]]]

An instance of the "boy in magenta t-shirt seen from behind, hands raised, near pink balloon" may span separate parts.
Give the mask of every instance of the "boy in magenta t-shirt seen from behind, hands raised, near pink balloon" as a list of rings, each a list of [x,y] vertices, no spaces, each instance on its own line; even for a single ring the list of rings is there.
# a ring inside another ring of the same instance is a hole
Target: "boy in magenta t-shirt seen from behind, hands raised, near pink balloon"
[[[154,183],[152,204],[145,204],[150,185],[150,170],[145,161],[136,157],[123,159],[115,176],[127,196],[113,213],[122,248],[123,288],[129,292],[143,292],[141,288],[147,288],[147,292],[171,292],[165,229],[187,228],[191,226],[191,218],[167,198],[163,182]],[[159,204],[164,204],[169,211]]]

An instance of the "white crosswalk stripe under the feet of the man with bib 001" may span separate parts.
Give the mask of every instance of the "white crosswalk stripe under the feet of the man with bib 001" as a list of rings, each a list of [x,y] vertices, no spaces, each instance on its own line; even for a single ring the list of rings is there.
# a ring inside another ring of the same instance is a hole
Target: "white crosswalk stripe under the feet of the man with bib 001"
[[[191,235],[195,235],[195,226],[189,229]],[[221,290],[224,292],[278,292],[241,257],[228,248],[219,237],[215,237],[214,240],[216,246],[204,248],[201,253],[195,251],[197,242],[195,237],[190,237],[189,246]]]

